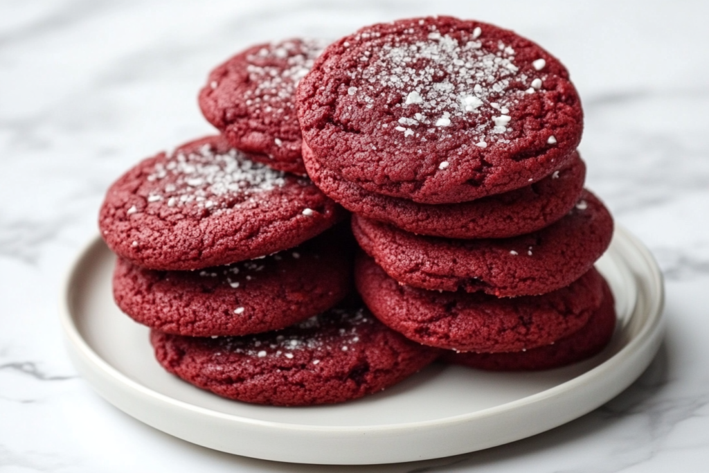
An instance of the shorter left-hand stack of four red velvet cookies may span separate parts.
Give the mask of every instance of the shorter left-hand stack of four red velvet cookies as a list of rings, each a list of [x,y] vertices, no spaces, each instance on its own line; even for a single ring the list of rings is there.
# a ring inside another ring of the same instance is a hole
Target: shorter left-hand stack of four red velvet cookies
[[[99,216],[119,257],[116,303],[152,328],[158,362],[259,404],[355,399],[437,357],[352,298],[351,233],[335,226],[347,213],[286,172],[303,170],[293,98],[309,44],[259,46],[216,69],[201,104],[223,135],[140,162]]]

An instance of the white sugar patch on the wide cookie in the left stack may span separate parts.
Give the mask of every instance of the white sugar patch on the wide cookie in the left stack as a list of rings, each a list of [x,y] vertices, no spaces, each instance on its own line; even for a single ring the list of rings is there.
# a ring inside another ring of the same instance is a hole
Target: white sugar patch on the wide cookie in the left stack
[[[149,203],[196,206],[215,213],[230,209],[236,201],[283,187],[286,174],[247,160],[237,150],[219,154],[204,145],[198,152],[178,152],[157,162],[147,181],[153,187],[146,198]]]

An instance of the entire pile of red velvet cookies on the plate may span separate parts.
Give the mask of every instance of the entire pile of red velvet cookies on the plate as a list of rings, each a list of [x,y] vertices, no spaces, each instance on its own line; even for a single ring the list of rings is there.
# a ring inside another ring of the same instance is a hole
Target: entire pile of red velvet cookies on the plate
[[[232,399],[324,404],[441,355],[542,369],[610,338],[593,262],[613,221],[583,189],[579,98],[539,46],[398,21],[324,51],[245,50],[199,103],[221,135],[140,162],[100,216],[116,302],[169,372]],[[354,213],[369,309],[335,202]]]

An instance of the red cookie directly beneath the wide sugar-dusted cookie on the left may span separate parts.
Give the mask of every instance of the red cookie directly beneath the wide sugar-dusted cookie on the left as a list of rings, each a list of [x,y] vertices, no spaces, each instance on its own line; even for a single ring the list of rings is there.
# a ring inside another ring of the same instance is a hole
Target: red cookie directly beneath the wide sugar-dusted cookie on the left
[[[208,337],[277,330],[350,293],[351,255],[332,232],[258,260],[198,271],[143,269],[118,259],[113,298],[133,320]]]

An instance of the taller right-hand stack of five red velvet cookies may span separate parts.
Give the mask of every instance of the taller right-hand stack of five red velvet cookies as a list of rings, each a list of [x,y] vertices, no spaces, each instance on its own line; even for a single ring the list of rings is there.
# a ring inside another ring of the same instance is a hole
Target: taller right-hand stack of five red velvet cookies
[[[615,324],[593,263],[613,221],[583,189],[581,103],[538,45],[416,18],[325,49],[297,91],[308,174],[352,211],[372,313],[451,362],[541,369]]]

